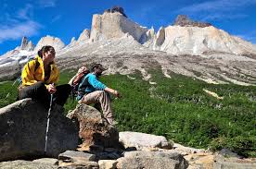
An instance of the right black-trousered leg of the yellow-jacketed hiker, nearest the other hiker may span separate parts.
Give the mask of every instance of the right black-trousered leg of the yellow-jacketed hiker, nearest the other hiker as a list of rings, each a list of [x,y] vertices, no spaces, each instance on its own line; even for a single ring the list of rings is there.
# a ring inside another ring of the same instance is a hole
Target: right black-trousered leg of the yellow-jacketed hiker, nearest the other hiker
[[[59,85],[56,90],[54,93],[55,103],[63,106],[69,98],[71,87],[69,84]]]

